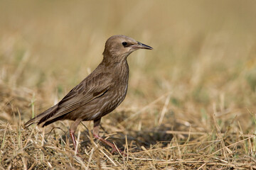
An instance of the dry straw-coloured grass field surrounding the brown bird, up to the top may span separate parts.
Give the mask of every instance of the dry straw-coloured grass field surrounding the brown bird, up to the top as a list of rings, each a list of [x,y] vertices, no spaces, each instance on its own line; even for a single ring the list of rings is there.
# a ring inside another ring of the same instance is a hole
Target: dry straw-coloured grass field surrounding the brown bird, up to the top
[[[100,3],[100,4],[99,4]],[[256,169],[254,1],[37,1],[0,6],[1,169]],[[60,100],[124,34],[127,98],[102,120],[111,154],[69,121],[22,125]]]

